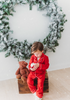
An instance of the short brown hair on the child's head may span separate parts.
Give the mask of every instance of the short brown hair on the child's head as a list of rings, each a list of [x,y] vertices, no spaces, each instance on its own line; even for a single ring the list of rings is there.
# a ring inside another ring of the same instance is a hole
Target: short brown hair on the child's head
[[[41,42],[34,42],[31,47],[31,53],[36,52],[37,50],[42,51],[43,49],[44,49],[44,47]]]

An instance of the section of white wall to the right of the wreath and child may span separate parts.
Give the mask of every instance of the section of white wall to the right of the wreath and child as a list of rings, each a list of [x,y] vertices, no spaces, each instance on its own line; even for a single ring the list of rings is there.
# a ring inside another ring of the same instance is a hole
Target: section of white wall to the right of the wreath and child
[[[65,23],[65,30],[59,40],[56,53],[47,53],[50,59],[49,71],[70,67],[70,1],[58,0],[58,4],[62,7],[68,21]]]

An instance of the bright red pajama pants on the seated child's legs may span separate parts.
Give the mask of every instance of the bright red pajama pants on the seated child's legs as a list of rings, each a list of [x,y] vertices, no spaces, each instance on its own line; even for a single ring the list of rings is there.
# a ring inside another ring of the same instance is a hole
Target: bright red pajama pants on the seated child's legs
[[[37,87],[34,86],[34,79],[37,78]],[[45,75],[32,75],[29,74],[27,78],[27,84],[32,93],[36,92],[39,98],[43,96],[43,86],[44,86]]]

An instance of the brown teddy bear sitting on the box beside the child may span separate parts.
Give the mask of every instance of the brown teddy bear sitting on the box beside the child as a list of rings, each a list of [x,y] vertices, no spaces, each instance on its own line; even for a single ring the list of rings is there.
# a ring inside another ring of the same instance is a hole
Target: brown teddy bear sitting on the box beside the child
[[[28,65],[27,62],[25,61],[19,61],[19,68],[16,71],[16,78],[17,79],[22,79],[23,82],[27,81],[27,77],[29,74],[29,70],[26,68],[26,66]]]

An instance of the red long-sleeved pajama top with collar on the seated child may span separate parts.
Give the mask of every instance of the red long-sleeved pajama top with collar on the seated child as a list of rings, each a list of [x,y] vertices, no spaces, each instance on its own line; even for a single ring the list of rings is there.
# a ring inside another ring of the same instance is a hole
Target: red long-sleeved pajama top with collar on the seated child
[[[39,63],[39,67],[35,71],[31,71],[31,63]],[[39,60],[37,60],[37,57],[35,55],[32,55],[29,61],[28,65],[29,71],[31,75],[40,76],[44,75],[46,73],[46,69],[49,68],[49,58],[47,55],[42,53]]]

